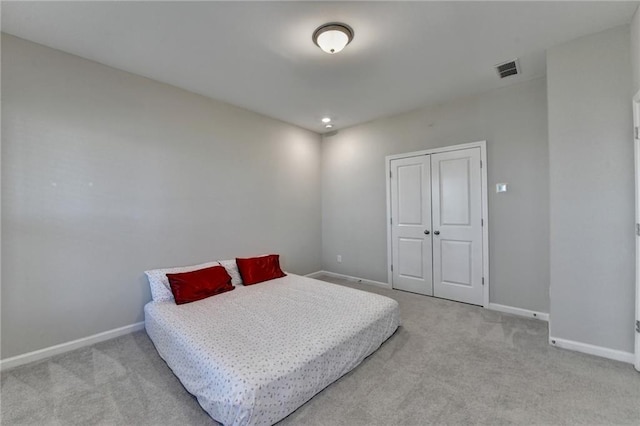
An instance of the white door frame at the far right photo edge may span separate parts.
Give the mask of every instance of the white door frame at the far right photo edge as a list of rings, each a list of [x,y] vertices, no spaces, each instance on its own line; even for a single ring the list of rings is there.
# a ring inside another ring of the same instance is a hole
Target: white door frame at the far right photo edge
[[[640,371],[640,90],[633,97],[633,149],[634,149],[634,170],[636,187],[636,300],[634,317],[634,347],[635,361],[634,367]]]

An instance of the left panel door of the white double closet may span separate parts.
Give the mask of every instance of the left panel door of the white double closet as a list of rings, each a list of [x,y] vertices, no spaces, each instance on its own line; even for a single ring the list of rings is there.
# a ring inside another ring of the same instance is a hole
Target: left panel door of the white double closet
[[[433,295],[428,155],[391,161],[393,288]]]

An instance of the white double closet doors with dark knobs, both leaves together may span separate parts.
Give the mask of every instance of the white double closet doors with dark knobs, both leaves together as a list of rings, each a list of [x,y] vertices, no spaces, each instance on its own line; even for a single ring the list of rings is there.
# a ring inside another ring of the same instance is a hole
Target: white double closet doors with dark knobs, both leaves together
[[[390,161],[393,288],[483,304],[480,148]]]

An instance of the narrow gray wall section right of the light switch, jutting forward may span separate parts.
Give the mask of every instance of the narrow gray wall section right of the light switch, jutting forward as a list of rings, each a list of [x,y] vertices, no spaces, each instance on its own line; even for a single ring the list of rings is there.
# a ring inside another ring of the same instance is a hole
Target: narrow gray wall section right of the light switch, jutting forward
[[[629,27],[547,53],[550,335],[633,352]]]

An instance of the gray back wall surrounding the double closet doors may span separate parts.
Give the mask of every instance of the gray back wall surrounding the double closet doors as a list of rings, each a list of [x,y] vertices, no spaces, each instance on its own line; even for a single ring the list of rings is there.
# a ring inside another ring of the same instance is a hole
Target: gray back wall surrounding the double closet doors
[[[323,268],[387,282],[385,156],[487,140],[490,300],[548,312],[546,103],[538,79],[325,136]]]

